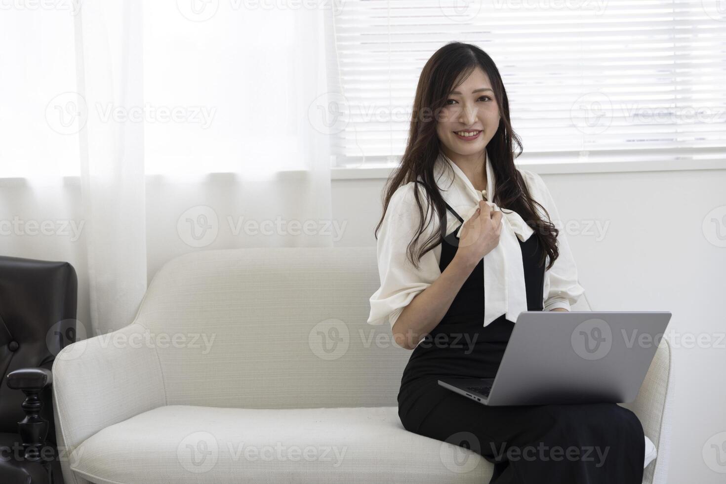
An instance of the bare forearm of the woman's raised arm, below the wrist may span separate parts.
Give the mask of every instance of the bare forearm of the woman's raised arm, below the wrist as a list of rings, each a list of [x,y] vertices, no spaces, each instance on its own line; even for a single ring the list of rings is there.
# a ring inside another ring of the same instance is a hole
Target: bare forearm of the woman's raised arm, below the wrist
[[[412,350],[444,318],[462,285],[476,265],[454,255],[451,263],[436,281],[401,311],[393,324],[393,340],[403,348]]]

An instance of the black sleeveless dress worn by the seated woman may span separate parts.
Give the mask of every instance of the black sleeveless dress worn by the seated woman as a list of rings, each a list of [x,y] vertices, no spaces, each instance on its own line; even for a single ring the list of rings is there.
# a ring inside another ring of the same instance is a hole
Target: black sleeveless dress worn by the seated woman
[[[441,243],[442,272],[457,251],[457,230]],[[527,310],[542,311],[542,247],[534,235],[519,243]],[[440,377],[497,374],[514,323],[503,314],[486,327],[483,321],[484,260],[404,369],[398,403],[406,430],[481,454],[494,464],[490,484],[642,483],[643,426],[616,403],[484,406],[438,385]]]

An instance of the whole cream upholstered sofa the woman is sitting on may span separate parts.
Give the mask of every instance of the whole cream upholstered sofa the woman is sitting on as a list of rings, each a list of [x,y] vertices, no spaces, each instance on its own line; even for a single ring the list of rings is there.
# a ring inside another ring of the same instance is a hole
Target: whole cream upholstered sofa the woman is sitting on
[[[129,326],[55,360],[65,482],[489,482],[478,454],[402,427],[411,353],[366,324],[378,283],[375,247],[169,261]],[[648,484],[666,483],[670,374],[665,344],[629,406],[658,449]]]

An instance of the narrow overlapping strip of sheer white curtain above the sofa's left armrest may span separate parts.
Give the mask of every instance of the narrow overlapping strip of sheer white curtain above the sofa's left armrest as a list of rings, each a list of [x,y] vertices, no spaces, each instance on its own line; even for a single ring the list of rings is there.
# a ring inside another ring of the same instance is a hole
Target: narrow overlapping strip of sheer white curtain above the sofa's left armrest
[[[141,3],[88,1],[75,17],[78,105],[85,125],[78,131],[79,163],[94,332],[129,324],[146,291],[144,123],[112,114],[144,102]]]

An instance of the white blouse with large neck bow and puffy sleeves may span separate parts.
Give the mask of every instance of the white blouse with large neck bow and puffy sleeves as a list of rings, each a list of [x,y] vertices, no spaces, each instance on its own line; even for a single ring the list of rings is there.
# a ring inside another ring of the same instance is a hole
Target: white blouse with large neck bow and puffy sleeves
[[[452,170],[446,168],[446,165]],[[560,228],[558,210],[542,178],[531,171],[521,169],[519,171],[531,196],[547,209],[552,223]],[[441,196],[465,221],[473,216],[479,200],[487,200],[492,210],[502,211],[491,201],[494,200],[495,180],[489,156],[486,157],[486,190],[481,192],[473,187],[461,168],[443,152],[440,152],[436,159],[433,174]],[[393,327],[411,300],[441,276],[439,269],[441,244],[423,255],[419,268],[415,268],[407,258],[407,245],[414,237],[420,220],[413,193],[416,186],[419,189],[420,200],[425,204],[425,191],[419,184],[411,181],[399,186],[391,197],[386,216],[381,223],[377,242],[380,287],[370,297],[370,316],[367,320],[369,324],[383,324],[388,319]],[[505,210],[502,211],[504,226],[499,236],[499,244],[484,255],[484,321],[482,321],[484,326],[502,314],[505,314],[505,318],[509,321],[515,322],[519,313],[527,310],[522,253],[517,239],[526,241],[534,234],[534,230],[518,213],[507,208]],[[544,217],[539,207],[537,210]],[[421,234],[416,249],[421,247],[422,242],[431,234],[439,233],[439,220],[433,216],[433,207],[428,207],[424,220],[428,222],[428,226]],[[460,221],[449,211],[446,214],[446,234],[459,224]],[[461,229],[457,231],[457,235],[460,231]],[[552,268],[544,272],[542,294],[544,311],[551,311],[554,308],[569,310],[584,292],[577,280],[575,261],[562,229],[557,239],[560,255]]]

